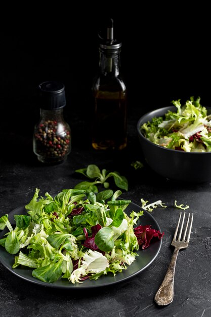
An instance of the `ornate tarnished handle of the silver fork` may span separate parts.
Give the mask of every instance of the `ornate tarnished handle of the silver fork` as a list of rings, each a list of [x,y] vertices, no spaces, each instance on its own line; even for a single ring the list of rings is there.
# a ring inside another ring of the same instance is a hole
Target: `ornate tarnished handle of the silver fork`
[[[160,285],[157,293],[155,294],[154,300],[157,305],[167,305],[173,301],[174,298],[174,278],[175,278],[175,266],[179,248],[175,248],[172,255],[172,260],[168,266],[165,277]]]

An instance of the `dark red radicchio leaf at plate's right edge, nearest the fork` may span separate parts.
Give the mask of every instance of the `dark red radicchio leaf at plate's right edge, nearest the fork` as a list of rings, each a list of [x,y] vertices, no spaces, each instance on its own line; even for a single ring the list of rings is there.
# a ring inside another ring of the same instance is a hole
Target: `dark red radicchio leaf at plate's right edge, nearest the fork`
[[[134,233],[137,237],[139,247],[142,247],[143,250],[149,247],[153,237],[158,237],[160,240],[164,234],[164,232],[161,233],[159,230],[151,228],[151,224],[145,226],[140,225],[134,228]]]

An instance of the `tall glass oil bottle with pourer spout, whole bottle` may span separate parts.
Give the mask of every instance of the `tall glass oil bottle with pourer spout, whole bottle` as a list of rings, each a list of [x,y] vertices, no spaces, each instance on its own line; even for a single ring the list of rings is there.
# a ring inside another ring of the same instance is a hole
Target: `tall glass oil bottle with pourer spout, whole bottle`
[[[97,150],[126,147],[126,87],[120,75],[121,43],[113,38],[113,20],[107,38],[100,37],[99,72],[93,84],[92,146]]]

